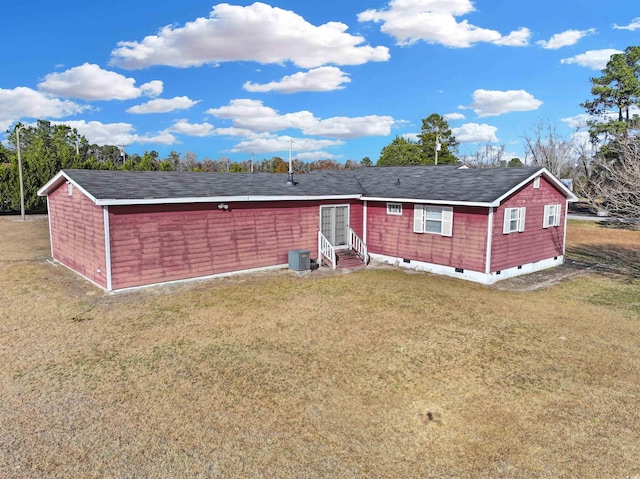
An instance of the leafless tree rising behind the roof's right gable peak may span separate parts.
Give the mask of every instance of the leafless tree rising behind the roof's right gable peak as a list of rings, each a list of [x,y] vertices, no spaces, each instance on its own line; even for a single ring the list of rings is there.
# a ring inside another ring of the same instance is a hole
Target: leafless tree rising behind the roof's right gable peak
[[[524,137],[525,164],[544,166],[558,178],[570,176],[575,164],[575,148],[547,122],[539,122],[531,135]]]

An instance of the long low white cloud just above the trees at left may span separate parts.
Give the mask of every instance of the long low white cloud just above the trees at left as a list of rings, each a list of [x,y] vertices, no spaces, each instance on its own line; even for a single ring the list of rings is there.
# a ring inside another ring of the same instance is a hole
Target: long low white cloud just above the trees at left
[[[157,135],[138,135],[131,123],[102,123],[99,121],[74,120],[64,123],[78,130],[87,138],[89,143],[97,145],[131,145],[133,143],[159,143],[172,145],[176,138],[170,132],[164,131]]]

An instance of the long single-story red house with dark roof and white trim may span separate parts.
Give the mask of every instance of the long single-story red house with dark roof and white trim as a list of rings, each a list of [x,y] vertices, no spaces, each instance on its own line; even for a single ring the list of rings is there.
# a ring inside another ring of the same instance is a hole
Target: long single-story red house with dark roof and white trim
[[[51,256],[106,291],[283,268],[348,251],[484,284],[560,265],[575,195],[545,168],[189,173],[63,170]]]

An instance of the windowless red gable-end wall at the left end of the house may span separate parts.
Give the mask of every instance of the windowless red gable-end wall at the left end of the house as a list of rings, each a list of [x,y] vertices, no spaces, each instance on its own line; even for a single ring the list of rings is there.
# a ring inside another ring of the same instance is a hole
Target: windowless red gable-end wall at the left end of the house
[[[53,258],[107,287],[104,213],[79,189],[67,194],[63,183],[49,194]]]

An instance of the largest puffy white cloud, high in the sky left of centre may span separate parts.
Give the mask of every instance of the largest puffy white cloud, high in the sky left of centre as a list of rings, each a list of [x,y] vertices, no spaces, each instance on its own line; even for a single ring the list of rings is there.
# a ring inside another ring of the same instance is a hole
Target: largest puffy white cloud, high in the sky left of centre
[[[389,59],[387,47],[363,45],[363,37],[346,30],[347,25],[339,22],[315,26],[292,11],[260,2],[246,7],[221,3],[208,18],[197,18],[183,27],[168,25],[140,42],[118,43],[111,62],[127,69],[185,68],[225,61],[291,61],[302,68],[315,68]]]

